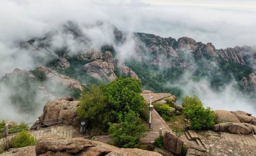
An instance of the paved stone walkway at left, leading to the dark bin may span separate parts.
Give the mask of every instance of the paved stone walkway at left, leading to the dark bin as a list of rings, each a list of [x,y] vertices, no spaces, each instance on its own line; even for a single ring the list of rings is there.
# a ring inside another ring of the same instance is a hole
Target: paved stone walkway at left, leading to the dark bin
[[[40,130],[36,131],[29,131],[36,139],[39,139],[40,137],[48,134],[56,134],[60,137],[65,137],[65,138],[74,138],[74,137],[84,137],[88,136],[88,130],[86,131],[86,134],[80,134],[80,129],[79,128],[73,128],[73,126],[52,126],[48,128],[41,128]],[[17,135],[11,134],[8,136],[8,138],[13,138]],[[88,137],[85,137],[88,139]],[[0,142],[3,141],[4,138],[0,140]]]

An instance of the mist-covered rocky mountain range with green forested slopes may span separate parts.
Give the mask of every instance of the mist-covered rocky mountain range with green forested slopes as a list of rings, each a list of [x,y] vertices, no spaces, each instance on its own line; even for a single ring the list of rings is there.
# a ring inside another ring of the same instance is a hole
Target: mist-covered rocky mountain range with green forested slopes
[[[104,38],[93,38],[95,30]],[[30,113],[34,120],[47,101],[79,97],[80,84],[88,87],[119,76],[140,79],[143,89],[170,92],[178,100],[196,94],[213,109],[255,113],[255,47],[216,49],[212,43],[188,37],[123,32],[101,21],[91,25],[67,21],[18,45],[34,68],[14,70],[0,80],[5,101],[1,107],[17,114],[3,113],[1,118],[24,120],[23,115]]]

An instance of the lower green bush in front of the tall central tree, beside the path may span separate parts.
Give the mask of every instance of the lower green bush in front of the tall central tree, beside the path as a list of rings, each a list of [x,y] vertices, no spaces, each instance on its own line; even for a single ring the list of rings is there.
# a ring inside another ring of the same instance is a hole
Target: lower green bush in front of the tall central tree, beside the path
[[[144,132],[147,128],[141,124],[138,113],[130,110],[124,113],[124,121],[122,115],[119,116],[119,124],[109,123],[109,132],[114,139],[114,145],[124,148],[136,148],[139,145],[139,139],[145,137]]]

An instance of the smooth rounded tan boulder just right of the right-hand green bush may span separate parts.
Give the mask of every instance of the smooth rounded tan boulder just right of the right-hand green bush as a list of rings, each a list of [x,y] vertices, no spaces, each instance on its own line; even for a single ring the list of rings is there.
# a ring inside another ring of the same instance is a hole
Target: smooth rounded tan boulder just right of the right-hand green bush
[[[236,122],[240,123],[240,120],[229,111],[216,110],[214,111],[219,117],[220,122]]]

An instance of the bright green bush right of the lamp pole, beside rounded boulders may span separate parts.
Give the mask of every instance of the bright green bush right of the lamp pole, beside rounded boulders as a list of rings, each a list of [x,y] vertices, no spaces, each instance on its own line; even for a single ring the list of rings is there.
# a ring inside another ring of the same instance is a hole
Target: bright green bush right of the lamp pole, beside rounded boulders
[[[214,125],[213,111],[210,108],[204,109],[203,103],[197,96],[187,96],[186,100],[186,107],[184,107],[182,113],[190,120],[191,127],[194,130],[211,129]]]

